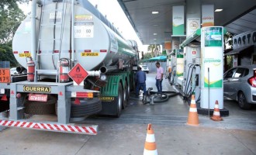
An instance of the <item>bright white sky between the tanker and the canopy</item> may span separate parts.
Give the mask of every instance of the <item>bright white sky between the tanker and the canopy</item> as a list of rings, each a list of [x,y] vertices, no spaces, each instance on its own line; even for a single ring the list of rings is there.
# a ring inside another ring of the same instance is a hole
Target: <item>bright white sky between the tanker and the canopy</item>
[[[119,29],[119,32],[123,35],[126,40],[136,40],[140,51],[147,51],[147,45],[142,45],[137,34],[135,33],[133,26],[131,26],[129,20],[127,19],[123,9],[120,7],[117,0],[88,0],[92,5],[98,5],[99,12],[102,12],[102,15],[106,15],[109,22],[113,22],[116,29]],[[23,4],[19,5],[23,10],[25,15],[30,12],[30,3],[29,5]]]

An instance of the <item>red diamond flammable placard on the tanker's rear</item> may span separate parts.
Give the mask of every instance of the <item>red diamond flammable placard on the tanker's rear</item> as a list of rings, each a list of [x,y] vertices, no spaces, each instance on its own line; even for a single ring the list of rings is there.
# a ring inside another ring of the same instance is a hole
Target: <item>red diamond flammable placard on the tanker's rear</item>
[[[74,67],[68,72],[68,76],[72,78],[72,80],[78,85],[81,84],[82,81],[88,77],[88,72],[81,67],[81,64],[75,64]]]

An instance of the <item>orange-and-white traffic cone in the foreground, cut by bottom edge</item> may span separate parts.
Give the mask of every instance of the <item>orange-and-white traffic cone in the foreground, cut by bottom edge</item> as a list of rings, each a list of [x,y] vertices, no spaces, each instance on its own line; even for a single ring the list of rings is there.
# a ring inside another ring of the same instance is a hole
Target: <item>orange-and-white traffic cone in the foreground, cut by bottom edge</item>
[[[144,146],[144,155],[157,155],[157,145],[154,139],[154,130],[151,128],[151,124],[147,125],[147,136]]]

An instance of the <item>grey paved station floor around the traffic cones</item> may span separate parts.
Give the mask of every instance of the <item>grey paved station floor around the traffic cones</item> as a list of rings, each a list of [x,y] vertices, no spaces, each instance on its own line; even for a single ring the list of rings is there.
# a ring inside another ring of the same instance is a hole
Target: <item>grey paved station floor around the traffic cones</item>
[[[153,87],[155,91],[154,83],[154,74],[147,74],[147,88]],[[175,91],[168,80],[164,80],[163,89]],[[223,121],[214,122],[208,115],[199,115],[199,126],[187,126],[189,105],[182,96],[155,105],[143,105],[141,98],[132,96],[118,119],[85,119],[85,123],[99,125],[96,136],[4,129],[0,132],[0,155],[139,155],[144,152],[148,123],[152,123],[157,152],[161,155],[255,155],[255,106],[245,111],[237,102],[225,98],[224,107],[230,115],[223,117]]]

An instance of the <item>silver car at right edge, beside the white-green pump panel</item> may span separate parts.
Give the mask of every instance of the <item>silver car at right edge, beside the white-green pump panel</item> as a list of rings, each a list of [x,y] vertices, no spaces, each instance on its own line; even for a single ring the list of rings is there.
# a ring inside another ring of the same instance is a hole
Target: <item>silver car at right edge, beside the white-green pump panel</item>
[[[224,73],[223,94],[249,109],[256,104],[256,65],[237,66]]]

